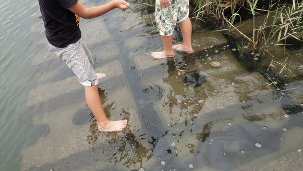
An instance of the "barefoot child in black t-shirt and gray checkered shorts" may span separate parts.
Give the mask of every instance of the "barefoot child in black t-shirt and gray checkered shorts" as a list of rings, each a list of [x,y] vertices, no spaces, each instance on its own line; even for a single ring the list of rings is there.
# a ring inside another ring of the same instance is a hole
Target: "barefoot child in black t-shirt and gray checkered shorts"
[[[39,0],[39,5],[50,50],[66,62],[83,85],[86,102],[97,119],[98,131],[122,131],[127,119],[111,121],[103,110],[98,94],[98,79],[106,75],[94,72],[91,54],[81,40],[79,21],[80,17],[91,19],[115,8],[124,11],[129,4],[114,0],[102,6],[85,8],[78,0]]]

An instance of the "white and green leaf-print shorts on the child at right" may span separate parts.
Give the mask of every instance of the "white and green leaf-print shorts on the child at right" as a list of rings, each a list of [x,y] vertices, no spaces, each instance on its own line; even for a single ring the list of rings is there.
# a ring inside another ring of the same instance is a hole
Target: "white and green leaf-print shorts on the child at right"
[[[160,0],[156,0],[156,22],[162,36],[173,35],[176,23],[188,17],[189,0],[171,0],[171,4],[168,8],[160,9]],[[163,31],[168,34],[165,35]]]

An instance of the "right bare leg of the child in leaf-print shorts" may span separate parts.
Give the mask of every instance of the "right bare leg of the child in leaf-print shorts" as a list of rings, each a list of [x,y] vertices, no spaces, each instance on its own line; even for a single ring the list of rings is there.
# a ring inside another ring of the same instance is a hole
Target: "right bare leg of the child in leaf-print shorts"
[[[193,53],[191,47],[191,21],[187,17],[187,19],[185,21],[180,22],[179,25],[183,37],[183,45],[174,45],[173,48],[177,51],[182,51],[191,54]]]

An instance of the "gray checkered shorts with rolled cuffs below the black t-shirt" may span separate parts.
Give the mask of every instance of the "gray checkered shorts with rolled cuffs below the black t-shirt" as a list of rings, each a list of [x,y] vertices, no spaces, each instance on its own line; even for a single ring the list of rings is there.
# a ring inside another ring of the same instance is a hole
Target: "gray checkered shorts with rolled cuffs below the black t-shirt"
[[[73,70],[83,86],[94,86],[98,84],[97,76],[91,66],[91,53],[81,38],[66,48],[57,48],[51,44],[48,45],[49,50]]]

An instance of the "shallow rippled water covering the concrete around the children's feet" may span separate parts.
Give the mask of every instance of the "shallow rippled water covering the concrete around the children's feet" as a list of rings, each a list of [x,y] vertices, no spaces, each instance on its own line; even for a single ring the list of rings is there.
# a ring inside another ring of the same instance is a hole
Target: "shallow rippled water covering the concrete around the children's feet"
[[[1,4],[0,170],[301,169],[302,102],[279,101],[227,42],[194,35],[193,55],[154,60],[161,38],[133,12],[81,20],[93,67],[107,73],[105,111],[129,119],[124,132],[100,134],[74,74],[48,51],[37,2]]]

